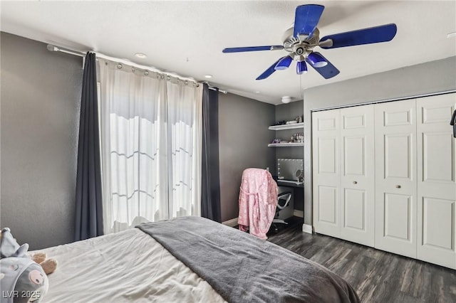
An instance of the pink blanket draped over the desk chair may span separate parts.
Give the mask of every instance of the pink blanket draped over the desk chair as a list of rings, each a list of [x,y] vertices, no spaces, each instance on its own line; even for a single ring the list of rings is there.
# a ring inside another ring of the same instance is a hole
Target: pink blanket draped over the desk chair
[[[276,181],[265,169],[246,169],[239,192],[239,230],[266,240],[277,206]]]

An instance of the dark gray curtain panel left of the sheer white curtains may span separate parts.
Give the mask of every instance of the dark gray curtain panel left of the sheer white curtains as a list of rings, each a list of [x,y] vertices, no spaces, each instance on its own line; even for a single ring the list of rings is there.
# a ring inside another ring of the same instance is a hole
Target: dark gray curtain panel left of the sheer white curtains
[[[94,53],[87,53],[79,122],[75,240],[103,235],[100,163],[96,59]]]

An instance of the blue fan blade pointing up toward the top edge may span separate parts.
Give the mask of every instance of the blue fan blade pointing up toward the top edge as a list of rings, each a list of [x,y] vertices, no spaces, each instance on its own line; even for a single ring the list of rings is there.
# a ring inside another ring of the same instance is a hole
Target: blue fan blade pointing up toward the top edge
[[[320,21],[321,14],[323,14],[322,5],[307,4],[296,7],[294,16],[294,33],[293,36],[299,38],[299,35],[312,36],[318,21]]]

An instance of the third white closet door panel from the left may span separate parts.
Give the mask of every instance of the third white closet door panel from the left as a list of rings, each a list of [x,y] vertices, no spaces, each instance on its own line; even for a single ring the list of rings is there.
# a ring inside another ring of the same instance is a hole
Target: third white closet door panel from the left
[[[415,100],[375,105],[375,248],[416,257]]]

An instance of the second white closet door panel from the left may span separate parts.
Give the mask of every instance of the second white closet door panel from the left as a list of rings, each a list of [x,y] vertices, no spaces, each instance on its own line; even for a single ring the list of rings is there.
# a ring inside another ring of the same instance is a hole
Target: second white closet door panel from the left
[[[341,110],[341,238],[374,245],[374,106]]]

